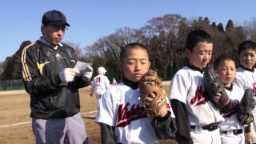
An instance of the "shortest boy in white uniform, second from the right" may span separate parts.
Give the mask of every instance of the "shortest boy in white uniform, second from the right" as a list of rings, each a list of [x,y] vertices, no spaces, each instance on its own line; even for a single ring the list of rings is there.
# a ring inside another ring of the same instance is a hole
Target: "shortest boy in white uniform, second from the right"
[[[230,101],[236,105],[230,112],[222,114],[225,118],[225,122],[220,126],[222,144],[243,144],[245,143],[245,135],[243,132],[244,130],[242,130],[243,126],[241,126],[238,120],[237,108],[243,97],[244,90],[242,87],[233,84],[236,75],[235,61],[229,56],[220,56],[214,62],[214,70],[217,72],[219,78],[221,78]],[[248,129],[250,132],[250,128],[246,126],[246,134],[248,134]]]

